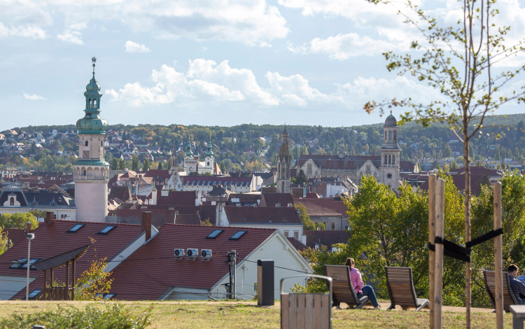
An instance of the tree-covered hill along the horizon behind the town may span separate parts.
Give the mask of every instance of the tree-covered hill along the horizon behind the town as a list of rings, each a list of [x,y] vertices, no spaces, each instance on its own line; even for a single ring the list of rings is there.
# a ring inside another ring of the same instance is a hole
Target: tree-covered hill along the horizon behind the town
[[[375,114],[372,116],[376,116]],[[372,116],[370,118],[372,118]],[[384,117],[383,117],[384,118]],[[377,120],[377,117],[374,117]],[[382,120],[382,118],[381,118]],[[15,128],[17,132],[44,132],[74,130],[74,125],[29,126]],[[283,131],[282,125],[237,125],[232,127],[207,127],[200,125],[110,125],[109,129],[120,132],[123,139],[142,137],[150,148],[169,151],[175,141],[177,147],[187,141],[195,141],[197,152],[205,150],[204,142],[211,139],[218,160],[230,159],[233,164],[267,160],[274,162],[279,148],[276,144]],[[525,113],[486,118],[482,134],[472,139],[475,160],[484,158],[514,158],[523,161],[525,153]],[[288,137],[294,145],[293,159],[300,153],[372,154],[381,147],[382,124],[343,127],[287,125]],[[498,137],[498,135],[500,137]],[[263,137],[264,139],[260,139]],[[461,144],[454,142],[454,133],[446,124],[421,127],[408,123],[400,127],[399,140],[402,160],[421,158],[447,158],[462,154]],[[23,141],[22,141],[23,142]],[[186,144],[185,144],[186,145]],[[258,151],[269,146],[265,158]],[[295,146],[297,146],[295,148]],[[64,145],[65,147],[65,145]],[[255,155],[246,155],[246,148],[253,148]],[[73,148],[74,150],[74,148]],[[167,154],[167,153],[164,153]],[[272,161],[273,160],[273,161]],[[230,163],[230,161],[228,161]]]

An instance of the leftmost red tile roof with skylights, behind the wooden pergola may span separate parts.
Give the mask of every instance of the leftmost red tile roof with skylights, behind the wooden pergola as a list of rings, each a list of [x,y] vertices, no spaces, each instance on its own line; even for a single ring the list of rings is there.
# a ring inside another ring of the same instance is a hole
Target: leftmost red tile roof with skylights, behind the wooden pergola
[[[76,224],[85,224],[76,233],[66,231]],[[117,225],[108,235],[97,235],[107,225]],[[47,259],[71,251],[80,246],[91,243],[93,238],[96,242],[87,253],[76,263],[76,277],[90,267],[91,260],[107,258],[111,260],[127,244],[141,235],[141,225],[125,225],[110,223],[88,223],[79,221],[55,221],[52,225],[42,223],[36,230],[31,240],[31,258]],[[26,276],[22,269],[10,269],[13,263],[10,260],[27,258],[27,243],[20,241],[13,248],[8,249],[0,255],[0,275]],[[29,290],[41,289],[43,286],[43,272],[31,269],[30,276],[36,279],[29,284]],[[65,282],[66,269],[64,267],[55,270],[55,280]],[[20,290],[11,300],[20,300],[25,297],[25,289]]]

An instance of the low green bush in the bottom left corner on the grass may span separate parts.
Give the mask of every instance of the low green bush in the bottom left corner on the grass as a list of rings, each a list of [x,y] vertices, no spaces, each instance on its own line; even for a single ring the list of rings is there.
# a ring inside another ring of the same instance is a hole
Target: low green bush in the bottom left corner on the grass
[[[129,309],[118,303],[89,304],[84,309],[57,305],[52,311],[12,316],[1,319],[0,328],[27,329],[44,325],[53,329],[142,329],[150,324],[151,307],[140,316],[132,316]]]

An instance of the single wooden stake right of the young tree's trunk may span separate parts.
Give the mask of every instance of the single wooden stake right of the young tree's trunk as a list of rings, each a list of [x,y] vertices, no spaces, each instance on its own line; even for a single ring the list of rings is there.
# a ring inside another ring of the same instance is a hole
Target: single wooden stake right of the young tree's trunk
[[[494,190],[494,230],[499,230],[501,226],[501,183],[493,185]],[[494,302],[496,304],[496,328],[503,329],[503,236],[498,235],[494,238],[494,272],[496,272],[496,294]]]

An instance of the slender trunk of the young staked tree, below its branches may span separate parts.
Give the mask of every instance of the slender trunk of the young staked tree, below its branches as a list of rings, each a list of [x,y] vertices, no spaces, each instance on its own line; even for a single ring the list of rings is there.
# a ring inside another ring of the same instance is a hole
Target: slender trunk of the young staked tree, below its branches
[[[468,159],[468,125],[463,127],[463,148],[465,160],[465,243],[470,241],[470,161]],[[470,329],[470,262],[465,263],[465,307],[466,307],[466,328]]]

